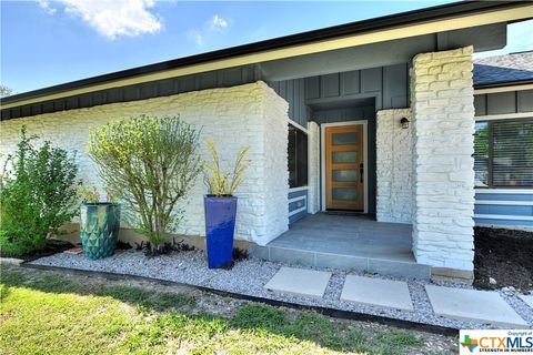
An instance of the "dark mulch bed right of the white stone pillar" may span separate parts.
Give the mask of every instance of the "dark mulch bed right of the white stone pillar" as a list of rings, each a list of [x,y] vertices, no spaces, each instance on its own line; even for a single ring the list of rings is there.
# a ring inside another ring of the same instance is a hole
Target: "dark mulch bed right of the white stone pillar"
[[[474,244],[475,287],[533,291],[533,232],[475,227]]]

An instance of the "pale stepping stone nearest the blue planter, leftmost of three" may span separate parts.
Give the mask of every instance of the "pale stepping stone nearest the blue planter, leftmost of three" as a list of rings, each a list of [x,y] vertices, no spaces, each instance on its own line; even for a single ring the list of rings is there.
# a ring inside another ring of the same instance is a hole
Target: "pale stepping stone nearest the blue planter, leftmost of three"
[[[264,285],[264,288],[302,296],[322,297],[330,277],[331,273],[323,271],[281,267]]]

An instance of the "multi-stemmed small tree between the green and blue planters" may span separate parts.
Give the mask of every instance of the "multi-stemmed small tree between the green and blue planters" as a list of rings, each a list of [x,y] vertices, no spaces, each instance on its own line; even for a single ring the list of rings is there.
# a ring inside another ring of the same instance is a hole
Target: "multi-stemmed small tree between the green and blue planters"
[[[102,180],[117,191],[132,226],[155,251],[181,220],[179,203],[201,171],[199,133],[179,116],[108,123],[90,134],[89,155]]]

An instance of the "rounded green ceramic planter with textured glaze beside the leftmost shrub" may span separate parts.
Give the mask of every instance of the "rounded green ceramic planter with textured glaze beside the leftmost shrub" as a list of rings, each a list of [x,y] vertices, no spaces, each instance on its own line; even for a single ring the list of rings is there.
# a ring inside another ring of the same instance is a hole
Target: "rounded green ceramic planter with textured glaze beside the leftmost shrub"
[[[114,254],[120,230],[120,206],[111,203],[81,205],[80,231],[83,253],[91,260]]]

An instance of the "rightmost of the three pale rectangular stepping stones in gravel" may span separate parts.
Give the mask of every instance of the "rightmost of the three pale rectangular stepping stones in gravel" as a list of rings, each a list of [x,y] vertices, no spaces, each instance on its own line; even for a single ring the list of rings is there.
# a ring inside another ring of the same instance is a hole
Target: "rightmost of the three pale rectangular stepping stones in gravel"
[[[494,291],[426,285],[436,315],[459,320],[529,327],[527,323]]]

